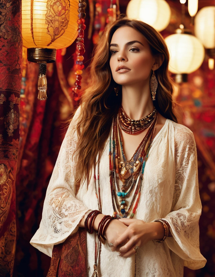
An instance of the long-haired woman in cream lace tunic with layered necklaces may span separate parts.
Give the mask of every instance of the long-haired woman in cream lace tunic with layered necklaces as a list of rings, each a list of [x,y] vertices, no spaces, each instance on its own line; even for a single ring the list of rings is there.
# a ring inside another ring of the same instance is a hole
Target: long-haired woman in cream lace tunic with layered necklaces
[[[173,112],[168,62],[162,37],[138,20],[115,21],[96,48],[91,83],[65,135],[30,242],[51,257],[54,245],[90,228],[91,211],[102,212],[91,222],[96,231],[113,215],[119,220],[107,217],[107,242],[96,258],[96,233],[87,232],[87,276],[179,277],[183,266],[206,263],[199,250],[196,145]]]

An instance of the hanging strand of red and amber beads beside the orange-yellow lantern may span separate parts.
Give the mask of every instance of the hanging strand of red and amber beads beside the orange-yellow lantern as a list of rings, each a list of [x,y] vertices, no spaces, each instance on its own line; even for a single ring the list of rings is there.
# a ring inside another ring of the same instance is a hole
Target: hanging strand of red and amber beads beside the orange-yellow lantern
[[[84,30],[86,28],[86,25],[84,24],[85,22],[85,0],[79,0],[79,4],[78,4],[78,37],[77,37],[77,41],[76,41],[76,51],[75,54],[77,55],[76,57],[76,61],[75,61],[75,65],[74,65],[74,69],[75,69],[75,75],[76,75],[76,81],[75,81],[75,87],[72,88],[72,93],[73,93],[73,97],[75,101],[78,101],[80,98],[80,89],[81,89],[81,79],[82,79],[82,69],[84,68],[83,65],[83,54],[85,53],[85,49],[84,49]],[[78,92],[79,90],[79,92]]]

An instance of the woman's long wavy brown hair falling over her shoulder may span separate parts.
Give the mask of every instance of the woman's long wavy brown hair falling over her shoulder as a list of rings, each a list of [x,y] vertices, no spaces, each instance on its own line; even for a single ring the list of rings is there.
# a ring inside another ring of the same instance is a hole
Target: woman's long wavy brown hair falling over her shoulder
[[[76,192],[80,183],[89,178],[96,157],[101,155],[106,142],[113,117],[117,114],[122,101],[122,90],[118,96],[114,92],[115,81],[109,65],[109,45],[114,32],[123,26],[129,26],[140,32],[150,45],[152,55],[163,55],[164,61],[156,70],[158,88],[153,101],[157,111],[164,117],[177,122],[172,99],[173,86],[168,75],[169,52],[162,36],[150,25],[127,17],[117,19],[104,31],[98,45],[94,48],[90,64],[91,81],[80,100],[80,115],[76,126],[78,143],[75,149],[77,167],[75,172]]]

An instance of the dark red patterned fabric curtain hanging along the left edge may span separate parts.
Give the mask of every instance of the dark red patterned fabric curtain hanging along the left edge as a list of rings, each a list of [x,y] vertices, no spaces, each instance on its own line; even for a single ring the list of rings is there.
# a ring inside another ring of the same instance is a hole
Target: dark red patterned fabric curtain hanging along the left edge
[[[0,276],[12,276],[22,65],[21,0],[0,5]]]

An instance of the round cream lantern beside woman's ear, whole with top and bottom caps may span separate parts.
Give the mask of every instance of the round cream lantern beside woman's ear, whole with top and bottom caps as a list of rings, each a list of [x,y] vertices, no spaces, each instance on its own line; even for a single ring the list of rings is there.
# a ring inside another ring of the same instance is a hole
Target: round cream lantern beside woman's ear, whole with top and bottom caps
[[[176,74],[175,81],[187,81],[187,74],[196,71],[204,60],[204,46],[188,29],[176,29],[165,38],[169,49],[169,71]]]

